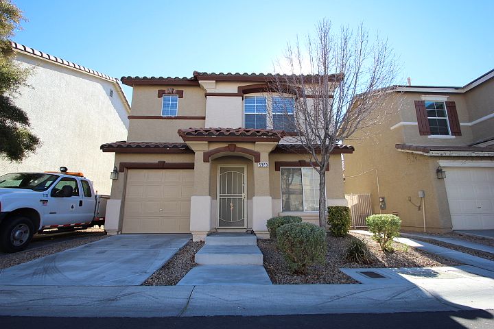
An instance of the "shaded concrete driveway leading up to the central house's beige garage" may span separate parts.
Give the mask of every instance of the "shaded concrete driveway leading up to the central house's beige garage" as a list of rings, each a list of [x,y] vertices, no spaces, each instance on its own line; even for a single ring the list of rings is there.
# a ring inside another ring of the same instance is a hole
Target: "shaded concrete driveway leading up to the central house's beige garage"
[[[139,285],[191,239],[190,234],[121,234],[0,270],[0,284]]]

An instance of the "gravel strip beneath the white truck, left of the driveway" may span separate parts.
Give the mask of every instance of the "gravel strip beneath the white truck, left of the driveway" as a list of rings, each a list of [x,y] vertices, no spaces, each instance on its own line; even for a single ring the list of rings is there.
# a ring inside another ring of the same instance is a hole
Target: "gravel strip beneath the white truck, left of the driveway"
[[[76,231],[71,234],[73,234],[71,236],[77,236],[77,238],[63,240],[65,236],[50,237],[49,235],[43,235],[32,241],[31,247],[34,247],[34,244],[37,244],[36,247],[32,249],[27,249],[23,252],[16,252],[14,254],[5,254],[0,252],[0,269],[6,269],[7,267],[26,263],[36,258],[56,254],[57,252],[63,252],[67,249],[79,247],[80,245],[85,245],[86,243],[91,243],[93,241],[106,238],[106,232],[104,232],[104,230],[89,229],[89,231]],[[54,239],[54,241],[44,243],[44,241],[51,239]],[[57,239],[60,239],[60,242],[58,242]]]

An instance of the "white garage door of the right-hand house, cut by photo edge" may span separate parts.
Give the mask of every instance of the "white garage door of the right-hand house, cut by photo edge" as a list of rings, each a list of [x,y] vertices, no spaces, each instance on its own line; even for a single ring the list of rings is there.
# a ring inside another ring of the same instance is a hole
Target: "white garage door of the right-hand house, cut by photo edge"
[[[446,171],[446,192],[454,230],[494,229],[494,168]]]

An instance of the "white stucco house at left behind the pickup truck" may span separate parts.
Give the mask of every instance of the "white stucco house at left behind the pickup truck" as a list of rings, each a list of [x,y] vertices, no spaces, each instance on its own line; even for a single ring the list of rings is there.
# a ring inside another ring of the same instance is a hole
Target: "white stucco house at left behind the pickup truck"
[[[32,69],[14,103],[41,145],[22,162],[0,160],[0,175],[20,171],[81,171],[109,194],[113,156],[99,145],[126,138],[130,106],[119,81],[84,66],[12,42],[15,61]]]

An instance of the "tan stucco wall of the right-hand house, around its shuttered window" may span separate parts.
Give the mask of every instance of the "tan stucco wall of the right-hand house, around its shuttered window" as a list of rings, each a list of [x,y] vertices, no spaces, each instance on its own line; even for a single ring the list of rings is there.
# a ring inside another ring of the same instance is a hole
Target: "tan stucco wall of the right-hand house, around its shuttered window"
[[[360,138],[366,136],[367,133],[361,131],[351,141],[351,144],[355,146],[355,152],[344,155],[345,193],[370,193],[373,213],[398,212],[403,229],[421,231],[423,230],[423,208],[419,210],[411,202],[418,205],[420,202],[418,193],[424,191],[427,231],[447,232],[451,230],[449,204],[445,182],[437,179],[436,169],[439,160],[451,160],[451,157],[432,157],[398,151],[395,144],[467,145],[471,143],[470,127],[462,126],[462,136],[451,140],[419,136],[419,129],[416,125],[404,125],[390,130],[392,125],[400,121],[416,122],[413,101],[421,99],[421,94],[401,94],[401,97],[404,99],[401,110],[392,115],[388,121],[373,127],[370,138]],[[452,95],[448,100],[456,102],[460,122],[469,122],[463,96]],[[349,142],[345,141],[345,143]],[[455,157],[454,160],[479,159]],[[377,178],[380,195],[377,192]],[[379,210],[379,197],[385,197],[386,210]]]

